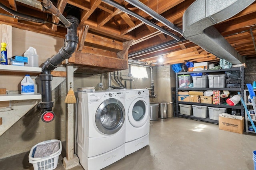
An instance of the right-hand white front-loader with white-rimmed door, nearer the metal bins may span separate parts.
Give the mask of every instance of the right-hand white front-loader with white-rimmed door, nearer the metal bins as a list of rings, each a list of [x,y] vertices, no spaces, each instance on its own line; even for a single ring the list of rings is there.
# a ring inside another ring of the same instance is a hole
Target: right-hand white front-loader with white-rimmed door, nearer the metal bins
[[[149,92],[147,89],[125,90],[126,134],[125,155],[149,143]]]

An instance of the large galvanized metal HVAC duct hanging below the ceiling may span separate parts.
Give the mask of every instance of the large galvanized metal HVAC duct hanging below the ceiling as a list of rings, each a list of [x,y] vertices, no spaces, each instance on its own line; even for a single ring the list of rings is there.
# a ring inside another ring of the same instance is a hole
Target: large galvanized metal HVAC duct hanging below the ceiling
[[[183,15],[183,36],[232,64],[245,59],[212,26],[231,18],[255,0],[196,0]]]

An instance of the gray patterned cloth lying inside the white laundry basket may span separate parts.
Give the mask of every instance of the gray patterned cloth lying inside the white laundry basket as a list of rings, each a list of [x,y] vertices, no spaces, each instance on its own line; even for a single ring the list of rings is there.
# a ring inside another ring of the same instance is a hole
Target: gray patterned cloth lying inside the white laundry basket
[[[42,158],[44,156],[49,156],[59,150],[60,141],[45,143],[42,145],[36,146],[36,151],[34,154],[34,158]]]

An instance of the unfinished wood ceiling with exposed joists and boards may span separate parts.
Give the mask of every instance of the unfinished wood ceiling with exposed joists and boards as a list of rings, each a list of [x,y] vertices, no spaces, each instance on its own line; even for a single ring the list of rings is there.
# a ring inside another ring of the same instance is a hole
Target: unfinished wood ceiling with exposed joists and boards
[[[41,2],[42,0],[38,1]],[[54,6],[56,6],[64,16],[73,14],[79,17],[79,30],[82,30],[86,25],[89,26],[89,35],[87,36],[94,34],[100,37],[110,37],[113,41],[118,40],[122,42],[132,40],[132,46],[128,50],[129,59],[164,65],[185,63],[186,61],[218,62],[218,57],[184,39],[182,35],[171,30],[142,10],[124,0],[115,0],[114,2],[117,2],[123,8],[173,33],[180,38],[180,41],[176,41],[169,35],[146,25],[137,18],[103,2],[103,0],[52,0]],[[194,0],[140,0],[140,2],[182,29],[182,16],[184,11]],[[24,20],[22,17],[13,17],[13,14],[0,8],[1,23],[58,37],[64,37],[66,34],[66,29],[60,26],[62,23],[50,13],[23,4],[20,0],[1,0],[1,3],[18,13],[44,20],[44,23]],[[256,2],[236,16],[216,24],[214,27],[242,57],[246,57],[246,59],[256,57],[252,40],[252,34],[254,37],[256,36]],[[252,33],[250,32],[250,28]],[[90,43],[89,38],[85,40],[84,45],[94,47],[94,45]],[[113,52],[119,50],[115,50],[115,47],[108,48],[108,43],[106,43],[105,46],[106,47],[101,45],[102,50],[112,49]],[[158,61],[160,57],[163,59],[162,63]]]

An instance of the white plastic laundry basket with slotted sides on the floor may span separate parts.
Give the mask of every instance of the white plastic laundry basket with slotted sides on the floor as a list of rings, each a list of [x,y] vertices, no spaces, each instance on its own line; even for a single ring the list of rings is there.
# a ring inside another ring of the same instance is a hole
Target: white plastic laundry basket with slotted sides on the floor
[[[34,170],[54,170],[57,167],[59,156],[62,151],[61,141],[59,143],[59,150],[57,152],[50,154],[49,156],[44,156],[41,158],[33,158],[32,157],[33,150],[38,145],[56,142],[56,141],[60,141],[60,140],[52,139],[49,141],[40,142],[40,143],[34,145],[34,147],[32,147],[32,149],[30,150],[29,155],[28,155],[28,162],[33,164]]]

